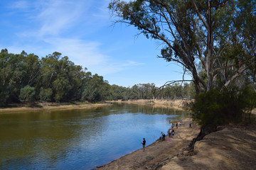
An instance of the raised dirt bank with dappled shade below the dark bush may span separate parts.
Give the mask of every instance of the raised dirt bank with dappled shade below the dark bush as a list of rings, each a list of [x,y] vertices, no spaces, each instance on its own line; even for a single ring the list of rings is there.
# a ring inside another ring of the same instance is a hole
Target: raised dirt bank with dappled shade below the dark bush
[[[256,123],[227,126],[196,142],[196,154],[174,157],[167,169],[256,169]]]

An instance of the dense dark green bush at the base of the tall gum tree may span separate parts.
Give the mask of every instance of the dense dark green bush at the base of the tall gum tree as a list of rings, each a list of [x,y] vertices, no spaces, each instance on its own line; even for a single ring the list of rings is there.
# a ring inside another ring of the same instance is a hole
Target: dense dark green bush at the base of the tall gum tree
[[[193,119],[199,125],[225,125],[242,121],[242,113],[248,108],[248,89],[213,89],[196,96],[191,103]]]

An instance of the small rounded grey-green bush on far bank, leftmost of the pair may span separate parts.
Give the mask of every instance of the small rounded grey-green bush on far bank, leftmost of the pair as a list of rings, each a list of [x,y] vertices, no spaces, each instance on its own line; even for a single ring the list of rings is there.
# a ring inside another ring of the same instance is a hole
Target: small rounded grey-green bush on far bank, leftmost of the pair
[[[25,86],[21,89],[19,100],[21,102],[31,102],[35,100],[36,89],[31,86]]]

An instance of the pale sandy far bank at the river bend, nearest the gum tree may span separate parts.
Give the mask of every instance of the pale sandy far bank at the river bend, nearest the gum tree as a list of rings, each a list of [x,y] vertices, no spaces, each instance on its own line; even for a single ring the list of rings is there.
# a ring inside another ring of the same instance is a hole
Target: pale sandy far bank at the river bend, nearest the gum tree
[[[166,99],[137,99],[137,100],[127,100],[127,101],[108,101],[113,103],[130,103],[130,104],[146,104],[152,105],[156,107],[166,107],[166,108],[174,108],[178,110],[186,110],[188,109],[188,104],[191,103],[192,100],[186,99],[175,99],[175,100],[166,100]]]

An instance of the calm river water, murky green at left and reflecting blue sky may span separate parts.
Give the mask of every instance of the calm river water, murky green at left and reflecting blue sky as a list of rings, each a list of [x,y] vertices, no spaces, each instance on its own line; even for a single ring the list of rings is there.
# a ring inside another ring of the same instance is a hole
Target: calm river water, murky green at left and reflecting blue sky
[[[183,111],[120,104],[0,114],[0,169],[94,169],[141,149]]]

